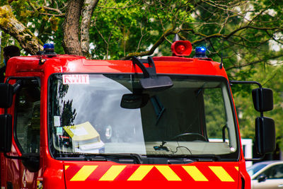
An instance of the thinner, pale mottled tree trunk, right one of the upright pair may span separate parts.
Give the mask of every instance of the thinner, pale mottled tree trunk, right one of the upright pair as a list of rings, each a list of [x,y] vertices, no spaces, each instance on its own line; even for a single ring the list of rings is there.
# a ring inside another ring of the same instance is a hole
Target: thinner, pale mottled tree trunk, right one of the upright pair
[[[91,58],[91,54],[89,53],[89,26],[91,24],[93,9],[96,7],[96,4],[98,4],[98,1],[99,0],[85,0],[81,11],[81,50],[83,55],[87,58]]]

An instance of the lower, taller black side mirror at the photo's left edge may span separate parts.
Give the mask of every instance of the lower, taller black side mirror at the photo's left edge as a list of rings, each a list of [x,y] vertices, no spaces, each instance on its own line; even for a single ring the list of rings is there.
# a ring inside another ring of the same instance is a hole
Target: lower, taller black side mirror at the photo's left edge
[[[0,151],[10,152],[12,147],[12,116],[0,115]]]

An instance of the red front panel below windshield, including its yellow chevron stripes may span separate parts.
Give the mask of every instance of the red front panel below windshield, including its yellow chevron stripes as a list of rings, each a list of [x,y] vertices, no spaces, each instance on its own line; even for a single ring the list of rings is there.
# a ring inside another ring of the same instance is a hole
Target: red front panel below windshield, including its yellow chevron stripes
[[[238,188],[238,162],[137,165],[65,162],[70,188]]]

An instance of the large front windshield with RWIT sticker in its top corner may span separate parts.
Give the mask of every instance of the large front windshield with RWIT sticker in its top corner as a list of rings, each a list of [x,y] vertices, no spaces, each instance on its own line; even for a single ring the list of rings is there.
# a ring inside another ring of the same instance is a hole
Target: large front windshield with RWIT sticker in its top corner
[[[170,77],[171,88],[146,91],[137,74],[50,76],[53,156],[212,154],[237,159],[237,132],[226,79]]]

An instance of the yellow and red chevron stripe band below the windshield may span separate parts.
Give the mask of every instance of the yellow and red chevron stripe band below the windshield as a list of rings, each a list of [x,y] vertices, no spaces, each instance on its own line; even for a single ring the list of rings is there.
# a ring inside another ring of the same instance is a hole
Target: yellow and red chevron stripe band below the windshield
[[[238,166],[83,165],[65,166],[67,181],[236,182]]]

